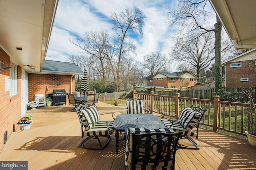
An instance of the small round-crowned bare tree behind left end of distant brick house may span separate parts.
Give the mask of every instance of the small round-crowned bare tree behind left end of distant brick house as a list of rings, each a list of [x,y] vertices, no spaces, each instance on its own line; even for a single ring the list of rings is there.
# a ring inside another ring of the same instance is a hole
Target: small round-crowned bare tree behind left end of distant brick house
[[[146,74],[154,75],[165,70],[165,66],[168,64],[167,60],[167,57],[162,55],[160,51],[154,51],[151,55],[144,56],[144,63],[142,65]]]

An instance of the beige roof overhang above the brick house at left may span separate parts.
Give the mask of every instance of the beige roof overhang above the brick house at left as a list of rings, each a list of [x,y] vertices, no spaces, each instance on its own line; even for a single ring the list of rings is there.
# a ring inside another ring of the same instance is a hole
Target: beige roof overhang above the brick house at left
[[[57,5],[58,0],[0,1],[0,47],[12,63],[28,72],[42,70]]]

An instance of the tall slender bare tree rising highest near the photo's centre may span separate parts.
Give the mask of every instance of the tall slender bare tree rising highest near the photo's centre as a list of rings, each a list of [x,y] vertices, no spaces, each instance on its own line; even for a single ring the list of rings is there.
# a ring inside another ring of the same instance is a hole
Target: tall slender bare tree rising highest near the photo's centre
[[[143,36],[142,27],[144,25],[144,19],[146,16],[142,14],[142,11],[138,8],[133,10],[126,7],[120,14],[115,12],[111,13],[110,21],[112,21],[113,29],[116,32],[115,44],[117,52],[116,69],[113,70],[114,74],[114,87],[117,92],[120,91],[121,86],[121,66],[122,60],[125,59],[130,52],[134,52],[135,46],[133,39],[130,37],[132,33],[138,33]],[[110,63],[112,64],[112,63]],[[114,66],[112,66],[114,69]]]

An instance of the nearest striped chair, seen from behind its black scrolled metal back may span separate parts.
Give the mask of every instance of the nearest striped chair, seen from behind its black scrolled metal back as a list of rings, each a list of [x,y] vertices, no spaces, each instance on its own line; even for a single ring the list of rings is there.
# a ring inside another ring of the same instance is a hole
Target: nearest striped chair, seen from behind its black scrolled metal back
[[[144,128],[128,128],[127,131],[127,141],[128,141],[128,145],[130,147],[130,149],[132,149],[132,133],[136,133],[136,134],[151,134],[151,133],[156,133],[156,132],[161,132],[161,133],[174,133],[174,131],[172,129],[144,129]],[[151,136],[153,139],[156,139],[157,136]],[[166,138],[166,140],[168,140]],[[168,147],[166,147],[166,149],[168,149]],[[156,148],[154,148],[154,150],[152,150],[153,152],[155,152]],[[143,150],[142,150],[143,152]],[[132,160],[132,154],[130,152],[128,152],[128,146],[126,145],[126,154],[125,154],[125,166],[126,169],[131,168],[131,160]],[[136,169],[154,169],[154,170],[162,170],[162,169],[170,169],[170,167],[172,166],[172,161],[169,162],[158,162],[157,164],[154,163],[148,163],[145,164],[142,162],[138,162],[138,164],[136,164]]]

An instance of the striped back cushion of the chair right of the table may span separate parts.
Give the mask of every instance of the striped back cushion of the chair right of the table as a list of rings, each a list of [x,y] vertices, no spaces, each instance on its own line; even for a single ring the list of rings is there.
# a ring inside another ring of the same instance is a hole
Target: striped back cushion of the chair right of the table
[[[182,109],[179,117],[179,120],[182,121],[180,122],[180,124],[184,127],[184,129],[188,131],[190,131],[195,126],[195,124],[190,123],[197,123],[199,119],[200,113],[192,110],[189,107],[185,107],[184,109]]]

